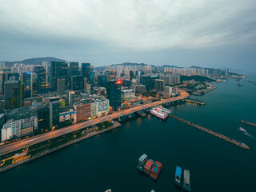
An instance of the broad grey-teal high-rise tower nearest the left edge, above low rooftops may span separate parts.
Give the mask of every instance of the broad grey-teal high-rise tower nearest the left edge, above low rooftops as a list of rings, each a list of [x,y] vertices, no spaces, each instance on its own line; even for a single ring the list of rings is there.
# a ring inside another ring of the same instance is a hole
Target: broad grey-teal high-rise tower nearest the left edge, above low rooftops
[[[9,80],[5,82],[5,108],[11,110],[22,107],[23,90],[22,82]]]

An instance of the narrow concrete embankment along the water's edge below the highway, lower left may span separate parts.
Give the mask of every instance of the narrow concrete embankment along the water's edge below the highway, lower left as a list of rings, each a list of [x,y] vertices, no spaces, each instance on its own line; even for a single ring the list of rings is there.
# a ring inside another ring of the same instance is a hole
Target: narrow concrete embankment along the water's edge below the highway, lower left
[[[119,123],[119,122],[114,122],[114,125],[113,125],[111,128],[107,128],[107,129],[99,130],[99,131],[93,131],[93,132],[90,132],[89,134],[86,134],[85,136],[83,136],[83,137],[81,137],[81,138],[77,138],[77,139],[74,139],[73,141],[66,142],[65,144],[62,144],[62,145],[57,146],[57,147],[54,147],[53,149],[42,150],[40,153],[35,154],[35,155],[32,156],[32,157],[27,157],[27,158],[25,158],[25,159],[23,159],[23,160],[21,160],[21,161],[14,162],[14,163],[12,163],[12,164],[10,164],[10,165],[8,165],[8,166],[0,167],[0,173],[5,172],[6,170],[10,170],[10,169],[12,169],[12,168],[14,168],[14,167],[16,167],[16,166],[20,166],[20,165],[22,165],[22,164],[24,164],[24,163],[26,163],[26,162],[30,162],[30,161],[32,161],[32,160],[34,160],[34,159],[41,158],[42,156],[44,156],[44,155],[46,155],[46,154],[50,154],[50,153],[52,153],[52,152],[54,152],[54,151],[56,151],[56,150],[60,150],[60,149],[62,149],[62,148],[64,148],[64,147],[70,146],[70,145],[72,145],[72,144],[74,144],[74,143],[76,143],[76,142],[80,142],[80,141],[82,141],[82,140],[84,140],[84,139],[86,139],[86,138],[91,138],[91,137],[93,137],[93,136],[95,136],[95,135],[97,135],[97,134],[102,134],[102,133],[104,133],[104,132],[106,132],[106,131],[114,130],[114,129],[117,128],[118,126],[122,126],[121,123]]]

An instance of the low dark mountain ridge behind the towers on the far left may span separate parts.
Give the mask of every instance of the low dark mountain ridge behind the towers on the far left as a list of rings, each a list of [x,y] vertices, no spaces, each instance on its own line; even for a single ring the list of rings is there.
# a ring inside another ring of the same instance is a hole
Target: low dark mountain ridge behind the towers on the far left
[[[25,59],[25,60],[18,61],[18,62],[5,62],[5,63],[6,63],[6,66],[12,66],[15,63],[23,63],[24,65],[42,65],[43,61],[65,62],[65,60],[60,59],[60,58],[46,57],[46,58],[29,58],[29,59]]]

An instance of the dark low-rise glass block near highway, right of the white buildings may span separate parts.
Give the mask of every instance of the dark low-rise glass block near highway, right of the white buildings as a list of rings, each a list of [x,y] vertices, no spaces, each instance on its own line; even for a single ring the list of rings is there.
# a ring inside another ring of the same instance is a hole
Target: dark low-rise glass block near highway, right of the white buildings
[[[38,130],[45,131],[50,129],[50,108],[38,109]]]

